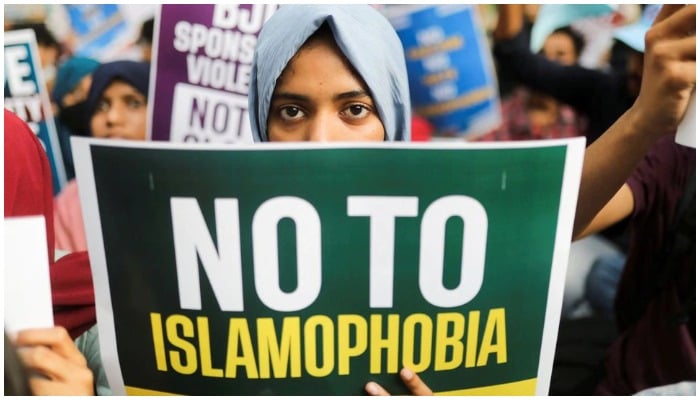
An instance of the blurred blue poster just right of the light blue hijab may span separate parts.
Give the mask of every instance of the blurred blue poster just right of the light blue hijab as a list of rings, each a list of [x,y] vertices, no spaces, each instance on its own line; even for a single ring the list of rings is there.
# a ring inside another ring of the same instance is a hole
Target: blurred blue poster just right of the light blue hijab
[[[413,110],[437,138],[477,137],[500,125],[495,69],[476,5],[382,11],[403,43]]]

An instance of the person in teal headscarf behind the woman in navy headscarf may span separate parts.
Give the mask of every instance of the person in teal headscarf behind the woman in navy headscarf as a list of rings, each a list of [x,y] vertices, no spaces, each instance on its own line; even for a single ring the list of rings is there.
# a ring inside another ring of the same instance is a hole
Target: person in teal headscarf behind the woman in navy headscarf
[[[61,144],[61,155],[66,167],[66,178],[75,177],[70,137],[88,134],[87,94],[92,73],[100,65],[87,57],[71,57],[58,67],[51,100],[56,105],[56,130]]]

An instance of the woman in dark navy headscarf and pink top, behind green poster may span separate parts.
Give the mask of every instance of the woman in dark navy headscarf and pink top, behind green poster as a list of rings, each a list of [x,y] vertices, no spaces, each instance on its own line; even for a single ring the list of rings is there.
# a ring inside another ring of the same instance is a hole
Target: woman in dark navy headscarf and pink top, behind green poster
[[[91,136],[145,140],[150,65],[113,61],[92,75],[87,97]],[[56,247],[70,252],[87,250],[77,181],[71,180],[55,199]]]

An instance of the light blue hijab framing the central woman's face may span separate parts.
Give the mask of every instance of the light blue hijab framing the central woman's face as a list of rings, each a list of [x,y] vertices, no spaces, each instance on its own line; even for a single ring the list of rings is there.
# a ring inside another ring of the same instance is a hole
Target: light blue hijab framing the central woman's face
[[[327,22],[340,50],[369,88],[386,140],[411,139],[411,100],[403,46],[389,21],[368,5],[283,5],[258,37],[248,94],[253,139],[266,142],[277,78],[306,40]]]

